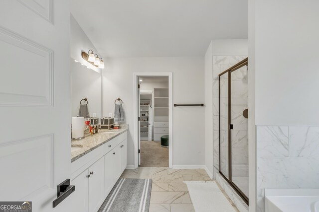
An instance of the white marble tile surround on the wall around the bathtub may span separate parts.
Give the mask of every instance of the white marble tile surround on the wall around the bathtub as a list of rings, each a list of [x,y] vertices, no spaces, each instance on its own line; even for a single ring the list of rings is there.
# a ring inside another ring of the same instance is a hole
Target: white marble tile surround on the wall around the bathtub
[[[257,126],[257,211],[265,188],[319,188],[319,126]]]

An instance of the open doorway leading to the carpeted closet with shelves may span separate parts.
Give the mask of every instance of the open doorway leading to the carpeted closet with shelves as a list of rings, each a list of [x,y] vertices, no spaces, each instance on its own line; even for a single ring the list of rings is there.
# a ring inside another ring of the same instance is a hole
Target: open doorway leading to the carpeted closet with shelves
[[[138,165],[168,167],[171,96],[169,75],[136,75]]]

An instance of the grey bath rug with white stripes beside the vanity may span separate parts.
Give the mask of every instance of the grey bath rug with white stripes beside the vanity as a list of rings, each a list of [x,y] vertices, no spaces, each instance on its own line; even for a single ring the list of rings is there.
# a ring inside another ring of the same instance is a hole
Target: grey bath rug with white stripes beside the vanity
[[[98,212],[149,212],[152,179],[119,179]]]

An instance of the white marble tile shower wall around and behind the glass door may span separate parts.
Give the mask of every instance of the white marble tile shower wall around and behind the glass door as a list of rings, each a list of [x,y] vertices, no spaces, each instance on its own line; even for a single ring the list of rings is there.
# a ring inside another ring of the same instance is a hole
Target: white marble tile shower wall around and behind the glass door
[[[213,56],[213,131],[214,172],[219,170],[219,77],[218,74],[244,60],[247,56]],[[242,116],[248,108],[247,68],[232,73],[233,176],[248,177],[248,120]],[[228,76],[221,78],[221,169],[228,175]],[[227,141],[227,142],[224,142]],[[214,175],[215,176],[215,175]]]

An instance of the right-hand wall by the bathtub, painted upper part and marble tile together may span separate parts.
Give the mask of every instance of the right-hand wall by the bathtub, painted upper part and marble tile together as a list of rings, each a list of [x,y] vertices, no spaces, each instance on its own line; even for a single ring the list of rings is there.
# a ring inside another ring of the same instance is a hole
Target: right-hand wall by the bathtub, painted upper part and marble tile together
[[[249,42],[256,64],[257,211],[264,212],[265,188],[319,188],[314,168],[319,166],[319,1],[252,0],[249,7],[255,9]]]

